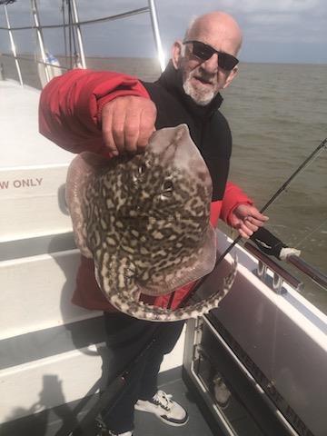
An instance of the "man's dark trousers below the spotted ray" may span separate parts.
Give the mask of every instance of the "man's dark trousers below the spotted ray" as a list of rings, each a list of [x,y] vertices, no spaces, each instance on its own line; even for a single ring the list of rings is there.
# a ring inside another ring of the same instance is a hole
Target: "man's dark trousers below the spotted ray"
[[[149,322],[124,313],[104,313],[106,345],[109,350],[109,382],[136,360],[144,347],[155,338],[152,346],[128,376],[123,396],[109,411],[103,411],[108,429],[123,433],[134,429],[134,404],[150,400],[157,391],[157,377],[163,355],[171,352],[177,342],[183,322]]]

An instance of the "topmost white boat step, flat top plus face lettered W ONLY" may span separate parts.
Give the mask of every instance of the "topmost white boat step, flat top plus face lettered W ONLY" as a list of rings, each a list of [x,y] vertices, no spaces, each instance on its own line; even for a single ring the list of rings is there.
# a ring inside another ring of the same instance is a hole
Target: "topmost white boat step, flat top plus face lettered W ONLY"
[[[71,231],[58,190],[74,154],[38,133],[38,90],[0,80],[0,95],[0,241]]]

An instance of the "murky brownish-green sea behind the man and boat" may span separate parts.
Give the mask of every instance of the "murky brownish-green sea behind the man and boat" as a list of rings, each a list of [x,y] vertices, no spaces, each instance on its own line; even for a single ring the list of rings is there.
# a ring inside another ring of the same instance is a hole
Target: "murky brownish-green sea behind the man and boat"
[[[69,66],[63,56],[57,57]],[[0,63],[5,78],[17,78],[12,60],[1,56]],[[86,64],[145,81],[160,74],[157,62],[148,58],[88,57]],[[40,88],[35,64],[23,61],[21,66],[25,83]],[[223,90],[221,110],[233,134],[230,180],[261,209],[327,137],[327,65],[241,63],[233,83]],[[327,149],[265,213],[272,233],[327,274]],[[229,232],[223,224],[222,229]],[[282,266],[302,280],[303,295],[327,313],[327,290],[289,264]]]

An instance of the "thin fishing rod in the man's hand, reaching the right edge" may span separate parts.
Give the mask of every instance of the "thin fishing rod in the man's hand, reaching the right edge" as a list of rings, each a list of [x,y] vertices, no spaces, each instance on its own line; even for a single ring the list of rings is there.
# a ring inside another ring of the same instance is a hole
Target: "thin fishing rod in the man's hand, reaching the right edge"
[[[272,197],[268,200],[267,203],[264,204],[264,206],[262,207],[262,209],[259,211],[260,213],[263,213],[275,200],[276,198],[278,198],[281,193],[283,191],[285,191],[285,189],[287,188],[287,186],[292,182],[292,180],[294,179],[294,177],[296,177],[299,173],[302,173],[302,171],[309,166],[314,159],[316,159],[319,154],[322,153],[323,150],[327,149],[327,138],[325,138],[321,144],[318,145],[318,147],[313,150],[312,154],[310,154],[302,163],[301,165],[290,175],[290,177],[286,180],[286,182],[282,183],[282,186],[272,195]],[[231,252],[231,250],[233,249],[233,247],[236,245],[236,243],[239,243],[242,239],[242,236],[239,235],[237,236],[237,238],[235,238],[233,240],[233,243],[231,243],[227,249],[223,252],[223,254],[221,254],[219,256],[219,258],[216,260],[216,262],[214,263],[214,268],[216,268],[219,263],[221,263],[224,259],[224,257]],[[184,299],[184,301],[182,302],[182,306],[188,302],[194,295],[195,292],[197,292],[197,290],[200,288],[200,286],[203,284],[203,282],[205,281],[205,279],[207,278],[209,274],[204,275],[202,279],[200,279],[198,282],[196,282],[196,284],[193,287],[192,292],[190,292],[187,297]]]

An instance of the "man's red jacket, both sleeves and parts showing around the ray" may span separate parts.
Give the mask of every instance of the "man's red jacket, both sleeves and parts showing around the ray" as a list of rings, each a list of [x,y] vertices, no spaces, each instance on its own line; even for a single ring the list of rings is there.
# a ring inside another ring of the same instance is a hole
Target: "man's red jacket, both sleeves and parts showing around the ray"
[[[55,77],[41,94],[40,133],[73,153],[91,151],[109,157],[110,153],[106,151],[102,141],[101,111],[104,104],[124,95],[149,98],[143,84],[125,74],[77,69]],[[228,182],[223,201],[212,203],[213,226],[216,226],[219,218],[229,223],[230,213],[241,203],[253,202],[238,186]],[[193,283],[189,283],[174,292],[171,302],[173,309],[192,287]],[[169,299],[170,294],[143,298],[144,301],[161,307],[166,307]],[[83,256],[77,274],[73,302],[91,310],[114,310],[95,282],[92,260]]]

